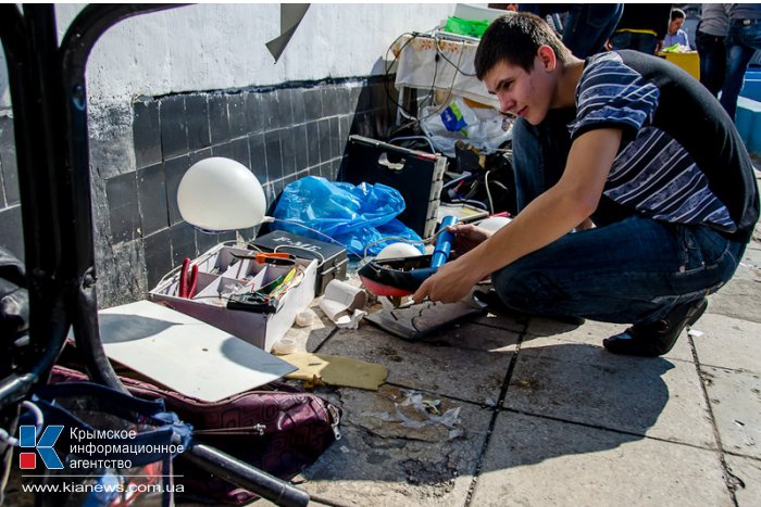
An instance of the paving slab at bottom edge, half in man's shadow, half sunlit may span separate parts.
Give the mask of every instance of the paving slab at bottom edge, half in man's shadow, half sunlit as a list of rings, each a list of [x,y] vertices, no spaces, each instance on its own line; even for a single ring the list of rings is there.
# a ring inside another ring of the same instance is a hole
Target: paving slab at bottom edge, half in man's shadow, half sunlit
[[[502,413],[471,505],[732,506],[715,452]]]

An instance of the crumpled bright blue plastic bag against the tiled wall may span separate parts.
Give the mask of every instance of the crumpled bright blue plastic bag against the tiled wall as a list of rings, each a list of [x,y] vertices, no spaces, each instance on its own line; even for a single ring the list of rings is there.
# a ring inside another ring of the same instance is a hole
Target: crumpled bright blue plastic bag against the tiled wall
[[[383,241],[384,238],[421,241],[415,231],[396,219],[403,211],[404,199],[391,187],[380,183],[353,186],[307,176],[283,190],[273,213],[275,221],[272,228],[321,241],[329,237],[357,256],[363,256],[365,249],[367,255],[377,255],[387,244],[399,241]],[[422,243],[415,246],[421,253],[425,252]]]

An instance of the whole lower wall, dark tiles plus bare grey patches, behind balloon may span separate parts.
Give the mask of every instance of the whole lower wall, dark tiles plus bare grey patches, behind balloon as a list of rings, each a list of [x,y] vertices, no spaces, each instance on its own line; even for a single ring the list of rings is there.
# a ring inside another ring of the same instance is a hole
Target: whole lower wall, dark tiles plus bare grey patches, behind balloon
[[[397,97],[389,100],[386,88],[394,90],[380,77],[348,78],[140,98],[89,111],[99,306],[144,297],[184,257],[235,239],[183,221],[176,192],[190,165],[213,155],[242,163],[272,206],[298,178],[335,179],[349,134],[388,137]],[[12,124],[0,113],[0,244],[23,258]]]

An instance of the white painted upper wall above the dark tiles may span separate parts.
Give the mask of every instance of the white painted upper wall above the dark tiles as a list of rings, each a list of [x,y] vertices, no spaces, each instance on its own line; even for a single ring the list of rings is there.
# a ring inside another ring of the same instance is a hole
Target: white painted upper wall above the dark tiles
[[[57,5],[59,38],[83,8]],[[383,74],[389,45],[439,25],[453,3],[313,3],[275,64],[279,4],[198,4],[139,15],[107,31],[87,67],[91,104],[189,90]],[[0,62],[4,67],[4,62]],[[0,110],[10,98],[0,71]]]

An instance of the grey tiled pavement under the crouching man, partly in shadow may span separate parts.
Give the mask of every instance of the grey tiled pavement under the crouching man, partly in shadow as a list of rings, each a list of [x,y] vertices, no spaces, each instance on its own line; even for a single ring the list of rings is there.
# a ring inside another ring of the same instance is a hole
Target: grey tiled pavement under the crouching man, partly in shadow
[[[761,505],[761,227],[670,354],[607,353],[620,329],[491,314],[425,342],[295,328],[310,352],[388,368],[377,392],[316,391],[344,436],[295,481],[335,505]]]

